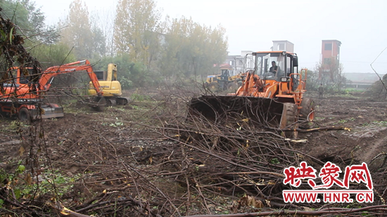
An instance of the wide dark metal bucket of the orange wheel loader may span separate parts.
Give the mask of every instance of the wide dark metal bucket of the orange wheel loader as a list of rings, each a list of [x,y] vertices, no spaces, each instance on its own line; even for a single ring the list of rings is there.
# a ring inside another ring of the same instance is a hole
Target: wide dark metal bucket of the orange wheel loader
[[[201,96],[189,104],[192,118],[204,118],[210,123],[223,126],[249,126],[279,128],[284,104],[269,98],[246,96]]]

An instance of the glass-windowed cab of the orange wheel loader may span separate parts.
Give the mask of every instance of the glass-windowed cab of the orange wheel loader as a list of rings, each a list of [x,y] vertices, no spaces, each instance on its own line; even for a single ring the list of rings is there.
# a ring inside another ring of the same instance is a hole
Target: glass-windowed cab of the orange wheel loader
[[[296,54],[286,51],[269,51],[253,53],[253,56],[255,57],[254,72],[262,80],[281,81],[281,78],[289,77],[293,72],[297,72],[297,69],[295,71],[295,67],[298,66]],[[277,66],[277,73],[270,71],[273,62]]]

